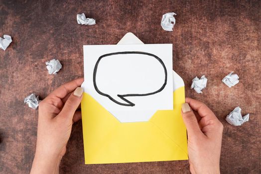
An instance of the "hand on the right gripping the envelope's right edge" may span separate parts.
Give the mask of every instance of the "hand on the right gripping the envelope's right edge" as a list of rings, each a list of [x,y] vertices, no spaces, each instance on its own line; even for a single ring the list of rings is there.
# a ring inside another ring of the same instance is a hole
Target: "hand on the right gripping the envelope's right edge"
[[[188,134],[190,172],[220,174],[222,123],[204,103],[191,98],[186,98],[181,113]]]

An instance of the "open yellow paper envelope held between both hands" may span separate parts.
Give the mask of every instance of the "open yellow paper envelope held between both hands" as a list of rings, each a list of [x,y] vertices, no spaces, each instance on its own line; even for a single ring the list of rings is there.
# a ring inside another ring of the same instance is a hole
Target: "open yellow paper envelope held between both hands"
[[[84,92],[85,164],[187,160],[187,134],[181,117],[184,102],[183,86],[173,91],[173,110],[158,110],[146,122],[121,123]]]

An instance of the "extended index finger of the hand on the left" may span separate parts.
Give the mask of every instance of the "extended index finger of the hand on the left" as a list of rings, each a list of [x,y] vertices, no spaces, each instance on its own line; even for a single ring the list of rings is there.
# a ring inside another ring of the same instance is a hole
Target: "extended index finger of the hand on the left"
[[[58,98],[64,98],[68,93],[74,91],[76,87],[80,87],[83,83],[84,79],[76,79],[71,82],[68,82],[57,89],[55,89],[50,95],[57,96]]]

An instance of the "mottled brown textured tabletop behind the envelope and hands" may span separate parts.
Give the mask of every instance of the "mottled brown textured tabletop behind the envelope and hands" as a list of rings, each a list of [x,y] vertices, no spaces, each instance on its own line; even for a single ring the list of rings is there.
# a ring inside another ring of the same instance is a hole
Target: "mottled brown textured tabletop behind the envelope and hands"
[[[197,0],[0,0],[0,37],[12,36],[0,50],[0,173],[29,173],[35,151],[37,111],[23,98],[35,92],[44,98],[53,89],[83,77],[83,45],[116,44],[127,32],[144,43],[173,43],[173,69],[183,78],[186,95],[205,102],[224,124],[223,174],[261,173],[261,1]],[[162,14],[177,13],[173,32],[160,27]],[[82,26],[76,14],[95,17],[97,25]],[[47,60],[57,58],[63,69],[48,75]],[[221,80],[231,71],[235,87]],[[206,75],[207,88],[189,87]],[[241,127],[224,117],[236,106],[250,121]],[[189,173],[188,161],[84,165],[82,124],[73,126],[60,172],[146,174]]]

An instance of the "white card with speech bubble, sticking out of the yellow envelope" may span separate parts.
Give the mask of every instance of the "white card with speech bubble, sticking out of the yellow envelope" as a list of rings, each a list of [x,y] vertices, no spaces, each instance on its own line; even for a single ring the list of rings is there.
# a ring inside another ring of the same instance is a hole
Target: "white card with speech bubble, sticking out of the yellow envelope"
[[[109,111],[173,109],[172,44],[85,45],[84,77]]]

